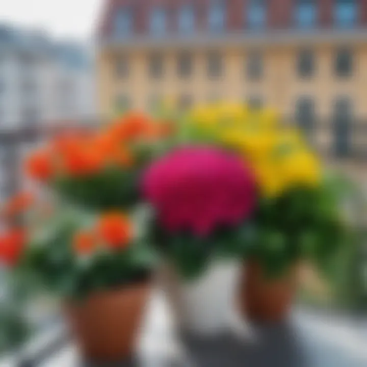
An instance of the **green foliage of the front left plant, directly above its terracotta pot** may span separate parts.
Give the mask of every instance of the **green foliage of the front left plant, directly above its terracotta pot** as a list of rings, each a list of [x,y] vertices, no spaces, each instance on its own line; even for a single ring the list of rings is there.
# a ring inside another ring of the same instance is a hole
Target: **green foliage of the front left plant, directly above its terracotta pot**
[[[49,223],[46,233],[25,252],[19,267],[22,279],[63,298],[80,299],[148,278],[155,256],[140,240],[126,249],[98,248],[90,255],[76,254],[72,238],[80,224],[81,219],[72,215]]]

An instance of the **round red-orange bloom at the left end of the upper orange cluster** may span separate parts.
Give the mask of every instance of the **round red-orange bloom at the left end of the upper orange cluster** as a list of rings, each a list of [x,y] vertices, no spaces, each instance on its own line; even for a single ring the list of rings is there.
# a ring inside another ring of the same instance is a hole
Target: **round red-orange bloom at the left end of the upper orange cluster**
[[[33,153],[25,162],[25,171],[31,177],[47,181],[54,173],[52,156],[47,149]]]

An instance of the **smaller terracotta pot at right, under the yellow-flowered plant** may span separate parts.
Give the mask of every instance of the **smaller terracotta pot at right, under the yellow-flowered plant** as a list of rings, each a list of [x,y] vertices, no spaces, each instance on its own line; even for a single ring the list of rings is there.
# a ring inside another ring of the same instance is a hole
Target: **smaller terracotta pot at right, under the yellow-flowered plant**
[[[297,288],[297,267],[280,278],[269,279],[255,262],[246,264],[240,287],[240,309],[252,321],[281,322],[292,306]]]

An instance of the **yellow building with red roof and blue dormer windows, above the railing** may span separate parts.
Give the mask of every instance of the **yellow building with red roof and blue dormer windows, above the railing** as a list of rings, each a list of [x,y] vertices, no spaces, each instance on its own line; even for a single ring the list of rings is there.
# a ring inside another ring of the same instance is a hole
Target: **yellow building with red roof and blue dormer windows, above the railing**
[[[98,40],[103,116],[168,97],[367,119],[367,0],[107,0]]]

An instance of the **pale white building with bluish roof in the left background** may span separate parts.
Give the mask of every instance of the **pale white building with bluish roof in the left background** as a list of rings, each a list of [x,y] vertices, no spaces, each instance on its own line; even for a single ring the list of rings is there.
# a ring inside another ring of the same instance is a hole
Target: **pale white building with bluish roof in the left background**
[[[96,119],[92,48],[0,24],[0,205],[24,187],[32,130]]]

